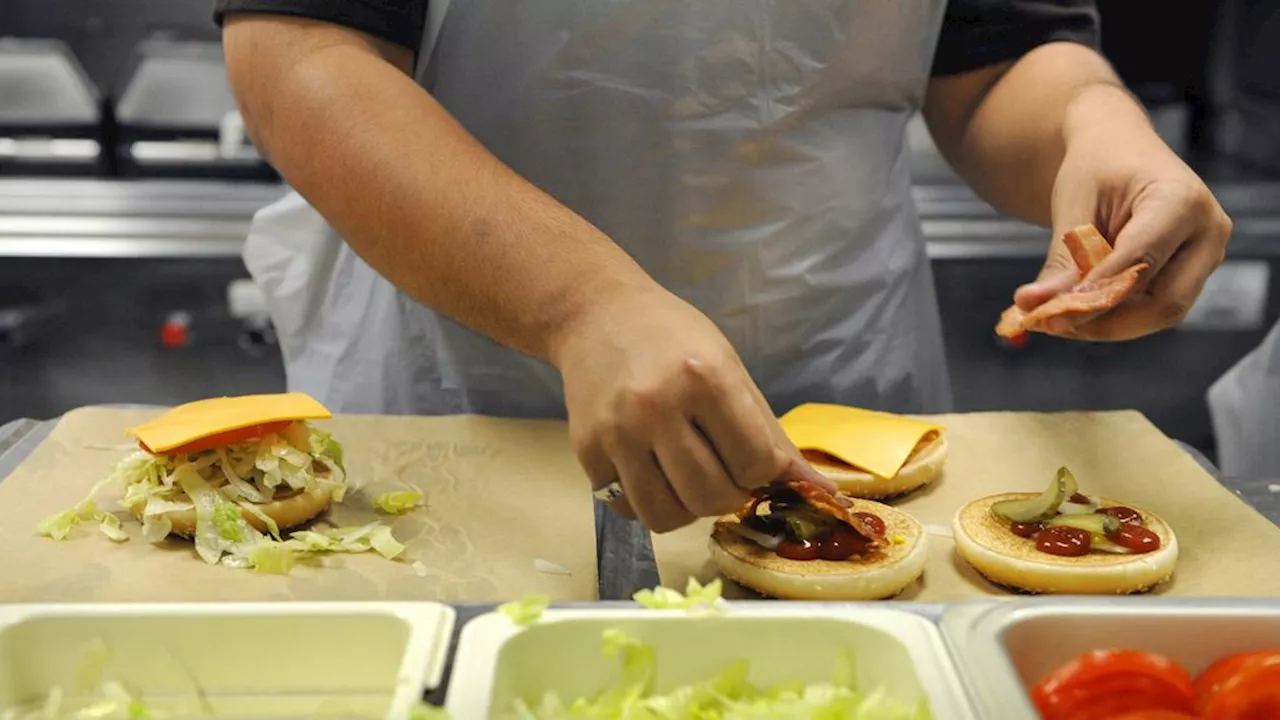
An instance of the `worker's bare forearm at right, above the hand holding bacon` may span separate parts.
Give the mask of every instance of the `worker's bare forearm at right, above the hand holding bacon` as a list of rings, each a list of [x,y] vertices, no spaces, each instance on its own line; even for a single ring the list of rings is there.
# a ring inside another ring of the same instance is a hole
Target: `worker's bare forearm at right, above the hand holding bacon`
[[[978,195],[1041,225],[1050,224],[1069,137],[1151,135],[1146,111],[1110,64],[1070,42],[1037,47],[988,77],[979,70],[933,81],[925,117],[943,156]]]

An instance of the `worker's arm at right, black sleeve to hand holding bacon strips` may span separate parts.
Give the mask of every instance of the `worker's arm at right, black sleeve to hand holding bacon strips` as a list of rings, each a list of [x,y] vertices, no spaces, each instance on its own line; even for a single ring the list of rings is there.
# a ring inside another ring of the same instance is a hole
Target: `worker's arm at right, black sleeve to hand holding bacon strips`
[[[1092,279],[1137,263],[1149,269],[1116,310],[1062,319],[1055,332],[1128,340],[1178,323],[1221,261],[1230,220],[1096,49],[1092,0],[952,0],[947,19],[950,42],[984,23],[1006,38],[995,46],[1010,56],[937,73],[924,117],[983,199],[1052,228],[1044,268],[1016,302],[1036,307],[1078,282],[1061,237],[1092,223],[1115,245]]]

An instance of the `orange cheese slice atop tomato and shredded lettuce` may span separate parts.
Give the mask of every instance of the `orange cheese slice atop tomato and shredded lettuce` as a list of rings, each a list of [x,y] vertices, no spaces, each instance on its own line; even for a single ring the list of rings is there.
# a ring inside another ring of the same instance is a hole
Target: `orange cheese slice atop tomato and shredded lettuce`
[[[315,398],[301,392],[211,397],[170,409],[164,415],[124,430],[151,452],[168,452],[192,441],[282,420],[333,418]]]

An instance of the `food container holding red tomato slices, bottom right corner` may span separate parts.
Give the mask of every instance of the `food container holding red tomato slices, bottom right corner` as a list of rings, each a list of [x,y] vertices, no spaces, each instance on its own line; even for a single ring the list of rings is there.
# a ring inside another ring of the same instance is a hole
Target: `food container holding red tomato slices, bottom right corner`
[[[1078,598],[950,610],[986,717],[1280,720],[1280,605]]]

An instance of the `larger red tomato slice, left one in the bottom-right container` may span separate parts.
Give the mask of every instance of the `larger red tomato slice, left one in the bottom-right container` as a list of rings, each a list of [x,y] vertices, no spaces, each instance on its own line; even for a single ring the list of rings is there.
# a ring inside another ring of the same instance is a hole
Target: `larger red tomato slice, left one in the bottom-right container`
[[[1172,660],[1135,650],[1088,652],[1032,689],[1044,720],[1111,720],[1139,710],[1192,712],[1192,678]]]

